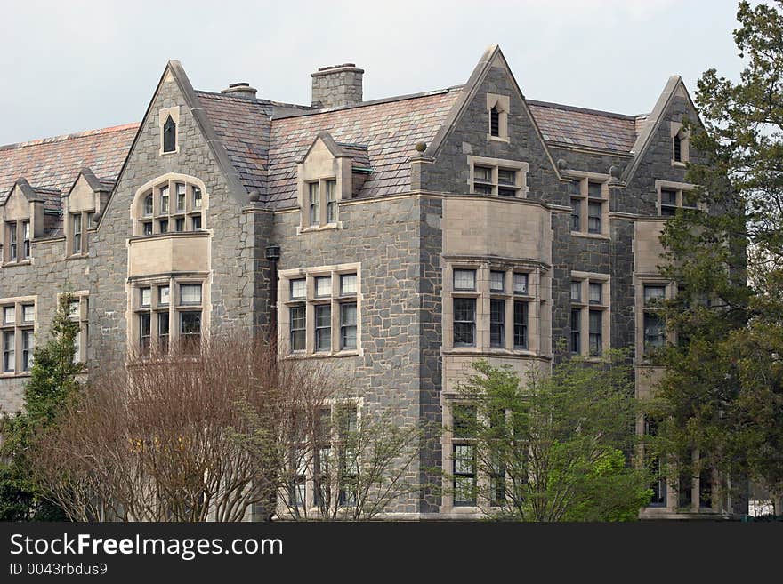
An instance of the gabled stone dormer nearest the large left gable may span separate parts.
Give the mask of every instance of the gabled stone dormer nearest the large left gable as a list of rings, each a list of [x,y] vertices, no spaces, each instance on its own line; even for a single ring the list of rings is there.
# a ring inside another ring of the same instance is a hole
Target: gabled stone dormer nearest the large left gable
[[[101,180],[89,168],[83,168],[70,190],[62,196],[62,227],[67,258],[86,257],[89,252],[87,231],[95,228],[96,213],[109,201],[112,180]]]

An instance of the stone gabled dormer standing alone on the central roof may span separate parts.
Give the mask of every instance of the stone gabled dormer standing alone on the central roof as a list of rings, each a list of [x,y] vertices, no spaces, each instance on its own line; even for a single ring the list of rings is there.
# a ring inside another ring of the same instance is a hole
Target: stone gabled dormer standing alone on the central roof
[[[335,142],[319,132],[296,164],[299,232],[342,228],[341,201],[351,199],[372,172],[367,146]]]

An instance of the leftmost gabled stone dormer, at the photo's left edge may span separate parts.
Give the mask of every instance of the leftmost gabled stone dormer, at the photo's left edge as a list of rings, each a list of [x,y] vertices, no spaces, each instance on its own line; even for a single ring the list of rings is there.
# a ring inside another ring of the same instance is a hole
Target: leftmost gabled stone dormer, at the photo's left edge
[[[34,188],[19,178],[0,204],[4,266],[26,264],[32,259],[32,242],[59,228],[60,191]]]

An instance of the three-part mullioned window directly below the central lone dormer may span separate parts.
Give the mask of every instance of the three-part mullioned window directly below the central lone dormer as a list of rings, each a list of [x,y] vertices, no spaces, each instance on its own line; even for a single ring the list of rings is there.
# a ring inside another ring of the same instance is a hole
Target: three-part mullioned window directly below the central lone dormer
[[[357,264],[343,264],[324,273],[319,268],[281,272],[279,311],[281,350],[329,353],[359,351],[359,273]],[[288,273],[287,273],[288,272]]]

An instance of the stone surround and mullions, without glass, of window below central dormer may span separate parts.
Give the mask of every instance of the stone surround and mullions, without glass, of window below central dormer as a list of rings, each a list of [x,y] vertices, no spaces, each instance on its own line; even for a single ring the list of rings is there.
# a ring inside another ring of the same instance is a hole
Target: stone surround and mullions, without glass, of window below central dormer
[[[356,293],[341,295],[340,276],[345,274],[356,274]],[[361,305],[363,294],[361,292],[361,262],[335,264],[331,266],[318,266],[311,268],[293,268],[280,270],[278,272],[278,347],[280,354],[288,358],[302,357],[341,357],[341,356],[362,356],[364,348],[361,343]],[[327,297],[317,298],[315,295],[315,278],[320,276],[331,276],[332,294]],[[291,299],[291,280],[300,278],[306,279],[305,300]],[[345,302],[356,303],[356,347],[350,349],[340,348],[340,304]],[[305,350],[291,352],[290,333],[290,310],[291,306],[305,305],[306,311],[306,333]],[[331,350],[315,351],[315,307],[320,304],[330,304],[331,310]]]

